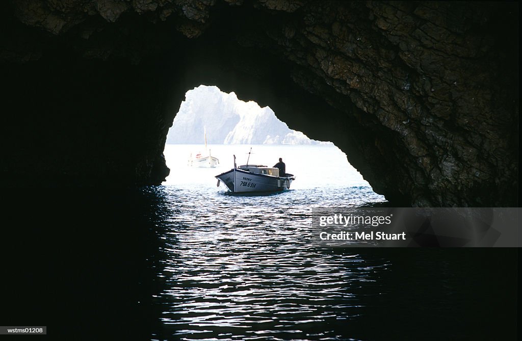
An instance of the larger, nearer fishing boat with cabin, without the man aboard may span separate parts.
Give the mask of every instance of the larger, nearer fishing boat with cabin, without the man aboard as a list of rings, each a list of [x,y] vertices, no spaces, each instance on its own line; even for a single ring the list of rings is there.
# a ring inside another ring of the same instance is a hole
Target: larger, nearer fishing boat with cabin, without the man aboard
[[[250,152],[248,153],[250,160]],[[263,166],[262,164],[243,164],[236,166],[234,155],[234,168],[228,172],[216,175],[218,187],[221,181],[233,193],[242,192],[278,192],[290,189],[293,174],[279,174],[279,169]]]

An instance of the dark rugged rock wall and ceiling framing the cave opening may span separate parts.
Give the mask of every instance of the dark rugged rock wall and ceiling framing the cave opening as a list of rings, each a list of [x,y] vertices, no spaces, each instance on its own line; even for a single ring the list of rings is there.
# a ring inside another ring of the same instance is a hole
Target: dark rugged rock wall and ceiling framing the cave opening
[[[517,204],[516,3],[2,6],[5,184],[159,183],[173,115],[206,84],[332,140],[397,204]]]

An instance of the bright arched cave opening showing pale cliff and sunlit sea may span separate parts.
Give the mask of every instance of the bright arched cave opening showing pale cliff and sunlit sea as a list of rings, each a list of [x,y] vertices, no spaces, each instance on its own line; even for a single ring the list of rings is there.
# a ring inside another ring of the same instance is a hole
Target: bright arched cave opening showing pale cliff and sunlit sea
[[[195,167],[191,160],[197,154],[219,162],[214,168]],[[268,167],[282,158],[287,172],[296,175],[293,189],[358,186],[372,191],[338,147],[292,130],[269,107],[241,101],[215,86],[188,90],[167,135],[164,156],[171,172],[163,184],[216,188],[215,175],[233,168],[234,155],[238,166],[248,157],[248,163]]]

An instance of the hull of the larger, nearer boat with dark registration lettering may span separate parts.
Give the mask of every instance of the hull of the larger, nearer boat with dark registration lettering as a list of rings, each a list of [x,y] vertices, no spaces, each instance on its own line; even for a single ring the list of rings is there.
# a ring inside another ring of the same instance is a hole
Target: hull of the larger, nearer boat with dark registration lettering
[[[292,174],[286,174],[284,177],[274,177],[240,169],[231,169],[228,172],[217,175],[216,179],[223,182],[234,193],[284,191],[289,189],[292,180],[295,180]]]

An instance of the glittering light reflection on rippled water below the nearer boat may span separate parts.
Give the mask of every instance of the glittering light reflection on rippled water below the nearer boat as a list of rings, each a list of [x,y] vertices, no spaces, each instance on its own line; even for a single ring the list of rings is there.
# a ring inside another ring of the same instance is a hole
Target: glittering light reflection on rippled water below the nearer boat
[[[312,207],[382,202],[368,187],[264,196],[161,191],[172,210],[160,235],[165,289],[155,297],[164,329],[152,339],[339,339],[339,326],[366,304],[360,295],[383,293],[379,274],[388,261],[309,242]]]

